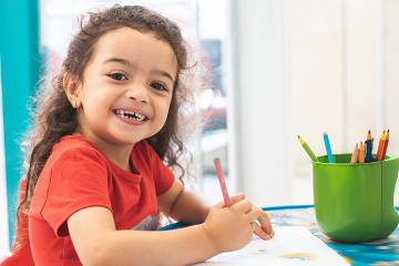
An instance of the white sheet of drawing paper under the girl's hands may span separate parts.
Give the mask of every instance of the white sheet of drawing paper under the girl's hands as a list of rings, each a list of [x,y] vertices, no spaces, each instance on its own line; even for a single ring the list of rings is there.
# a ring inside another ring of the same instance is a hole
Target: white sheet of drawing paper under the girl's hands
[[[274,227],[274,231],[275,236],[270,241],[254,236],[246,247],[219,254],[196,265],[349,265],[338,253],[303,226]]]

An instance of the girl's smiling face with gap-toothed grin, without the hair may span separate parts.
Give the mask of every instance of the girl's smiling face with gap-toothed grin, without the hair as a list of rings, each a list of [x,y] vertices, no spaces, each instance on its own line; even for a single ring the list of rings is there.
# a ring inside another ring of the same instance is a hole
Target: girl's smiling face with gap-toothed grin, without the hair
[[[102,35],[76,90],[80,133],[93,142],[134,144],[165,124],[177,73],[172,48],[124,27]]]

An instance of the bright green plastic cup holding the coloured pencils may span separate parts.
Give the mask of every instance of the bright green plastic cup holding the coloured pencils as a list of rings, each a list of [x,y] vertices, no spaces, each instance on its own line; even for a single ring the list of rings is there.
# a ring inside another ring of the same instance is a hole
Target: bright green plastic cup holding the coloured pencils
[[[397,227],[393,194],[399,157],[350,164],[351,154],[319,156],[313,163],[316,218],[321,231],[338,242],[381,239]]]

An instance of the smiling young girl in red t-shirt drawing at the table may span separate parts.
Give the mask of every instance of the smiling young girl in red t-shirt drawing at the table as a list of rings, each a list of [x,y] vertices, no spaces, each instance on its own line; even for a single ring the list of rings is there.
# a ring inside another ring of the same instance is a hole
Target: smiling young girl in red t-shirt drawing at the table
[[[241,248],[253,233],[273,236],[243,195],[208,208],[163,164],[176,166],[183,150],[186,68],[168,19],[142,7],[90,14],[39,105],[9,265],[187,265]],[[150,231],[160,211],[193,226]]]

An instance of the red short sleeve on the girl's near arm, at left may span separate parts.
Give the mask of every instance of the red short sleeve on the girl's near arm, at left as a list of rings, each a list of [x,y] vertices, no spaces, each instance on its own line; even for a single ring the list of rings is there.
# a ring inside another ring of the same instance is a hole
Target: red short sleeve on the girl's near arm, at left
[[[73,213],[90,206],[111,209],[105,165],[89,149],[68,151],[54,163],[41,215],[58,236],[69,235],[66,221]]]

